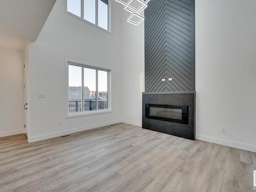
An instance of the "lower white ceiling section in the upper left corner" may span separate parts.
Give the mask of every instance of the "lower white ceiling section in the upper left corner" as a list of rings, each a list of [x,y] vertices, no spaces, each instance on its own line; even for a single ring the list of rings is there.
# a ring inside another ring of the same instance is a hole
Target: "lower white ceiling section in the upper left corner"
[[[1,0],[0,46],[35,41],[56,0]],[[11,38],[15,37],[15,38]],[[17,42],[14,42],[14,40]]]

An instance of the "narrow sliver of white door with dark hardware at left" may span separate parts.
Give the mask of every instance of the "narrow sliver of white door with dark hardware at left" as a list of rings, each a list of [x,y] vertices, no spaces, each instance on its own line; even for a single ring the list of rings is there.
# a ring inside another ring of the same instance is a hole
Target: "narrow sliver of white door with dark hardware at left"
[[[24,65],[24,114],[25,114],[25,133],[28,135],[28,71],[27,63]]]

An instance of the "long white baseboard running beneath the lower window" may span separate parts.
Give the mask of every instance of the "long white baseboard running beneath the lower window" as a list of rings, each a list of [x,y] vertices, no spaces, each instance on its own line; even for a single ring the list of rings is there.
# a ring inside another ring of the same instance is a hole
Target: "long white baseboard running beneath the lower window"
[[[59,136],[63,136],[63,135],[68,135],[68,134],[72,134],[72,133],[77,133],[77,132],[81,132],[81,131],[91,130],[91,129],[95,129],[95,128],[98,128],[101,126],[108,126],[111,124],[116,124],[116,123],[121,123],[121,122],[122,122],[122,120],[115,120],[115,121],[109,121],[109,122],[105,122],[105,123],[98,123],[98,124],[78,127],[78,128],[74,128],[74,129],[70,129],[70,130],[60,131],[60,132],[54,132],[54,133],[45,134],[45,135],[39,135],[39,136],[35,136],[35,137],[28,137],[28,142],[32,143],[32,142],[36,142],[36,141],[41,141],[41,140],[59,137]]]

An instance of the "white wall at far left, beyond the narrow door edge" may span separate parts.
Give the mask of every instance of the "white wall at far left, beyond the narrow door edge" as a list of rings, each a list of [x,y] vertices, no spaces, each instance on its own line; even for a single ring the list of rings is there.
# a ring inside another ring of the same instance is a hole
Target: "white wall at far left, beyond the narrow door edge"
[[[24,133],[24,52],[0,48],[0,137]]]

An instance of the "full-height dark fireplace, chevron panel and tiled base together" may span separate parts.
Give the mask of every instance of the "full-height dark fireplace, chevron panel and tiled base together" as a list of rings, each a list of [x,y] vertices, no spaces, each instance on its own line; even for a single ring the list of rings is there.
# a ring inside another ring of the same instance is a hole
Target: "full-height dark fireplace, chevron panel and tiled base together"
[[[189,5],[186,4],[186,9],[191,14],[186,15],[182,22],[189,26],[187,29],[175,29],[173,25],[177,14],[182,17],[184,7],[174,8],[165,1],[155,2],[157,3],[149,3],[148,9],[145,10],[145,92],[142,94],[142,128],[195,140],[195,0],[188,1]],[[165,9],[175,11],[169,14],[159,11]],[[167,25],[158,25],[158,19],[155,18],[165,20]],[[166,29],[175,29],[175,34],[159,32]],[[179,38],[184,36],[184,29],[185,41]]]

